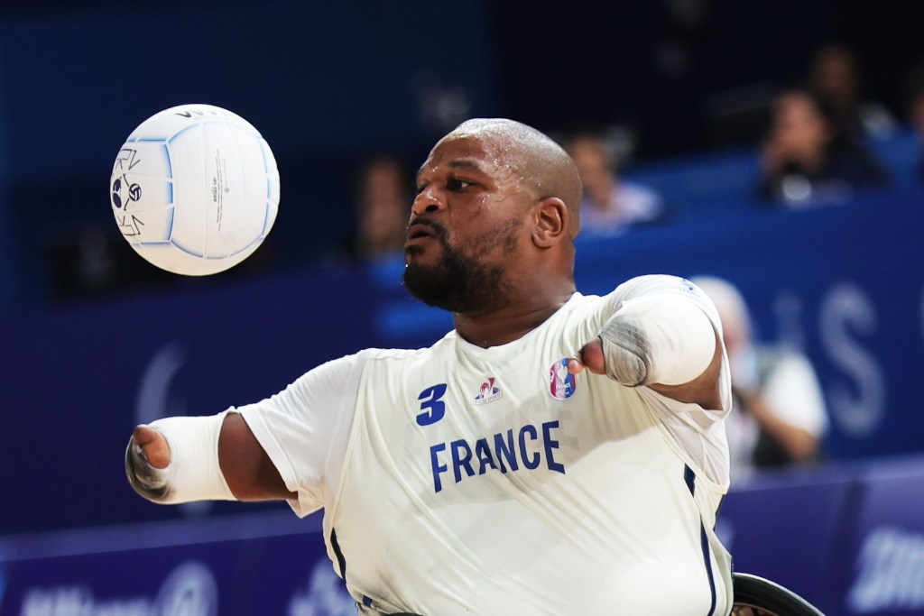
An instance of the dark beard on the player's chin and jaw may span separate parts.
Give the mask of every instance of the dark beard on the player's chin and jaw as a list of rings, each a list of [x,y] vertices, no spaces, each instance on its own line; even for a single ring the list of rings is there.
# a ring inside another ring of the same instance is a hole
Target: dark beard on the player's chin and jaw
[[[473,255],[498,246],[503,246],[508,253],[513,252],[517,248],[519,222],[511,221],[492,236],[482,237],[468,250],[449,246],[444,227],[430,221],[427,223],[439,234],[437,239],[443,254],[435,265],[410,264],[405,268],[407,291],[428,306],[461,314],[481,312],[503,304],[508,294],[505,268],[485,265]]]

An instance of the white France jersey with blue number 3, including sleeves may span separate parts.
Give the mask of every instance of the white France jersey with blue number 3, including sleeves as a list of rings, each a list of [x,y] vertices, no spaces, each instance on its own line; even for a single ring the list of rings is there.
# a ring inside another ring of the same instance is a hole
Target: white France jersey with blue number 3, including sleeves
[[[371,349],[239,409],[296,512],[324,508],[361,612],[728,613],[730,558],[712,530],[728,487],[727,362],[714,410],[566,367],[649,291],[689,297],[721,333],[699,290],[645,276],[575,294],[509,344],[450,332]]]

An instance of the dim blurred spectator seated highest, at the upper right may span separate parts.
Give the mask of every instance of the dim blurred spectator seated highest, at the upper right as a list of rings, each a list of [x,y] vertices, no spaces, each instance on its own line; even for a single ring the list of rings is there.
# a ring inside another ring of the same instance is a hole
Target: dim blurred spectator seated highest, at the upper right
[[[885,137],[895,129],[893,115],[881,103],[864,100],[857,56],[844,45],[821,46],[809,67],[810,90],[854,139]]]

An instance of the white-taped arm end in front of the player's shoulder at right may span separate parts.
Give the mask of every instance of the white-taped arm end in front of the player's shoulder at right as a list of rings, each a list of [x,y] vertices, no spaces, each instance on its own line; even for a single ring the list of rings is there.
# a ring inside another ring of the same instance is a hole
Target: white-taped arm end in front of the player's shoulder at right
[[[626,300],[603,325],[600,340],[607,376],[629,387],[687,383],[715,354],[709,317],[675,294]]]

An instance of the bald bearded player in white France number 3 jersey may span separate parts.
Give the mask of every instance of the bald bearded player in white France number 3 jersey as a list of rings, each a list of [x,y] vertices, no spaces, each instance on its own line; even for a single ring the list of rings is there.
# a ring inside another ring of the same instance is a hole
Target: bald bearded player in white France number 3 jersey
[[[404,282],[454,330],[139,426],[132,486],[323,509],[360,614],[728,614],[712,528],[730,380],[710,300],[668,275],[577,293],[577,170],[531,127],[463,123],[417,188]]]

